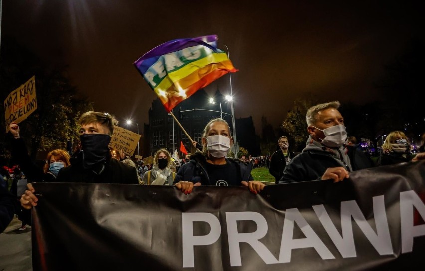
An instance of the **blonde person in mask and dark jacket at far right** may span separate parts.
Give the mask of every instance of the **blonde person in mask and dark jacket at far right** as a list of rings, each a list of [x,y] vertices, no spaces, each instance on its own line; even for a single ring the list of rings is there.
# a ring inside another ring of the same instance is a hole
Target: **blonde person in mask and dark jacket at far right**
[[[393,131],[385,138],[377,163],[382,166],[409,162],[415,157],[410,151],[410,142],[405,133]]]

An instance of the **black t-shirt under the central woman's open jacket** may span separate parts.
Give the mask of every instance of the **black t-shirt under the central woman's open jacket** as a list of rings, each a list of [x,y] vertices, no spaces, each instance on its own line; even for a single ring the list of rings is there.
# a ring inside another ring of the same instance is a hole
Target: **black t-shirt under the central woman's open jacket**
[[[213,165],[207,163],[206,169],[210,177],[211,185],[216,186],[240,186],[240,174],[235,163],[227,162],[225,165]]]

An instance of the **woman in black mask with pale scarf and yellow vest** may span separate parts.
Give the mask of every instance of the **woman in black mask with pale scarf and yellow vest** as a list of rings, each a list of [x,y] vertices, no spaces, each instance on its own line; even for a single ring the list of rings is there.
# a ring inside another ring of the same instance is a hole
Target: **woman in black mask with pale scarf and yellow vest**
[[[176,173],[170,168],[171,155],[166,149],[155,153],[151,170],[143,175],[143,183],[147,185],[173,185]]]

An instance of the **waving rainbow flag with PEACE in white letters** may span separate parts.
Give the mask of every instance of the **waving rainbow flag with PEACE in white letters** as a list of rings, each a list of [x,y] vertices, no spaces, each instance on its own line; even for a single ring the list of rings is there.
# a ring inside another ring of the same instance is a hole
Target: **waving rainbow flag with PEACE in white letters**
[[[224,74],[238,71],[217,49],[217,39],[216,35],[175,39],[133,63],[167,112]]]

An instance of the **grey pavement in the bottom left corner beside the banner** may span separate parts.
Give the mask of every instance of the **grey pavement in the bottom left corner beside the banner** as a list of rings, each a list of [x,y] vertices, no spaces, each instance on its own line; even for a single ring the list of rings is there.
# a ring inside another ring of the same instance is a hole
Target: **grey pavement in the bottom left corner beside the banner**
[[[31,227],[19,231],[16,215],[0,234],[0,271],[32,271]]]

